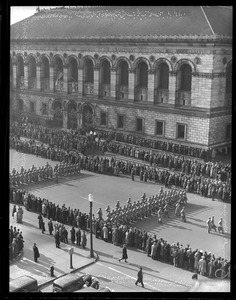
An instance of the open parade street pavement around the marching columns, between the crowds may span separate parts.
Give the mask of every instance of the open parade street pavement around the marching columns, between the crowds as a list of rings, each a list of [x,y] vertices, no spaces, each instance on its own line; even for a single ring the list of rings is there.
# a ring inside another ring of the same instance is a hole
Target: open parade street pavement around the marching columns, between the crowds
[[[14,165],[16,169],[21,166],[30,168],[32,164],[36,167],[44,165],[48,160],[33,155],[10,150],[10,168]],[[26,159],[27,156],[27,159]],[[49,161],[51,165],[57,162]],[[139,199],[145,192],[147,196],[158,193],[160,185],[144,183],[136,180],[132,182],[125,176],[108,176],[82,171],[78,176],[61,178],[56,184],[54,180],[41,182],[33,186],[26,186],[35,195],[49,199],[62,206],[64,203],[71,208],[79,208],[82,212],[89,212],[89,203],[85,198],[89,193],[94,195],[93,212],[96,214],[99,207],[105,213],[105,208],[109,204],[115,207],[119,199],[124,205],[129,197],[132,201]],[[179,242],[186,246],[190,244],[192,249],[201,248],[210,251],[216,256],[230,257],[230,209],[231,205],[220,201],[211,201],[195,194],[188,194],[188,205],[186,207],[187,223],[181,222],[173,212],[171,218],[165,219],[163,224],[157,222],[157,217],[146,218],[134,226],[147,232],[157,234],[170,243]],[[206,220],[214,216],[216,223],[223,217],[225,234],[206,231]]]

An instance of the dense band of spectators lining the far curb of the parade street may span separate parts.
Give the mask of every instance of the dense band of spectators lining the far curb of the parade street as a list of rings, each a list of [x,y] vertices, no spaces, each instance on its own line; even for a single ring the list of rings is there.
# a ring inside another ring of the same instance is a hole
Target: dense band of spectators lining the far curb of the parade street
[[[89,158],[82,155],[76,150],[64,150],[55,146],[37,146],[32,140],[20,140],[16,136],[11,136],[10,146],[17,151],[25,153],[33,153],[47,159],[59,160],[65,163],[79,164],[81,170],[88,170],[102,174],[119,175],[120,173],[139,177],[140,181],[152,181],[155,183],[165,184],[166,187],[175,186],[183,188],[189,193],[197,193],[204,197],[220,199],[224,202],[230,202],[231,199],[231,180],[227,181],[221,179],[211,178],[216,173],[214,168],[206,168],[210,172],[198,176],[193,174],[186,174],[164,169],[163,167],[150,166],[145,163],[137,163],[134,161],[116,159],[114,157],[95,156]],[[19,176],[16,172],[16,176]],[[215,176],[215,175],[214,175]],[[218,176],[218,175],[217,175]]]

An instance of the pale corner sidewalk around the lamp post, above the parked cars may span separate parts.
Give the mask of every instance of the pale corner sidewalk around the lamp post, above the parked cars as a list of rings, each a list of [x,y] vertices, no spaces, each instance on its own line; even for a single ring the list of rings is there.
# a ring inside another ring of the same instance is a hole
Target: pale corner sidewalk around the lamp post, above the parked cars
[[[12,207],[13,205],[10,204],[10,213]],[[37,214],[24,209],[23,223],[14,224],[10,214],[10,224],[20,228],[25,241],[22,256],[10,265],[10,281],[23,275],[29,275],[37,279],[38,284],[42,287],[57,277],[70,272],[74,273],[97,261],[98,256],[96,253],[94,253],[95,258],[90,258],[89,235],[87,235],[87,246],[85,249],[70,243],[70,233],[68,234],[69,244],[61,243],[61,248],[56,248],[54,237],[50,236],[48,231],[44,234],[41,233],[41,230],[38,228],[37,217]],[[47,230],[48,219],[44,218],[44,222]],[[71,227],[66,227],[69,232]],[[40,253],[38,263],[34,262],[32,249],[34,243],[37,244]],[[70,255],[68,253],[68,249],[72,246],[74,248],[72,256],[73,269],[70,268]],[[50,274],[51,266],[54,266],[54,277],[51,277]]]

